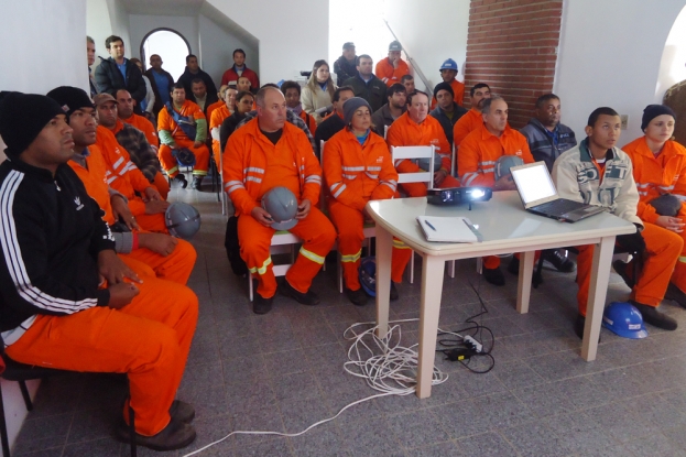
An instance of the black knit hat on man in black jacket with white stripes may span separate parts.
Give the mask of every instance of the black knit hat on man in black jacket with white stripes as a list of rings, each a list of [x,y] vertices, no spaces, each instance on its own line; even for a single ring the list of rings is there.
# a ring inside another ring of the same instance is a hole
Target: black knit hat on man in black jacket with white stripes
[[[6,93],[0,101],[0,137],[8,156],[29,148],[41,130],[64,111],[52,98],[37,94]]]

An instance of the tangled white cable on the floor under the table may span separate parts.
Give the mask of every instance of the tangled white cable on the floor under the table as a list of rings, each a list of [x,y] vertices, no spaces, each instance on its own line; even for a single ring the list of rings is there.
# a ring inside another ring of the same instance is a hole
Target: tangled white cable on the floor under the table
[[[404,323],[404,322],[415,322],[417,319],[404,319],[404,320],[393,320],[394,323]],[[300,436],[303,435],[314,427],[330,422],[342,414],[347,409],[355,406],[359,403],[364,403],[366,401],[379,399],[381,396],[389,395],[409,395],[414,393],[416,384],[416,370],[417,370],[417,352],[414,351],[417,345],[413,345],[410,348],[404,348],[400,346],[401,340],[401,330],[400,325],[394,325],[389,329],[385,338],[378,338],[374,334],[378,326],[369,328],[361,334],[356,334],[353,328],[361,325],[372,325],[374,323],[358,323],[352,324],[350,327],[346,328],[344,331],[344,337],[352,340],[352,346],[348,350],[348,361],[344,363],[344,368],[350,374],[364,378],[367,380],[367,384],[374,390],[381,391],[382,393],[377,393],[374,395],[366,396],[364,399],[356,400],[352,403],[349,403],[340,409],[340,411],[333,417],[325,418],[317,423],[312,424],[307,428],[298,433],[281,433],[281,432],[260,432],[260,431],[233,431],[226,435],[222,438],[217,439],[208,445],[200,447],[192,453],[184,454],[183,457],[190,457],[196,454],[202,453],[205,449],[213,447],[216,444],[219,444],[230,437],[231,435],[277,435],[277,436]],[[352,334],[351,337],[347,337],[348,334]],[[394,335],[398,334],[398,338],[394,338]],[[373,338],[375,342],[377,350],[374,351],[372,347],[367,345],[363,339],[368,336]],[[457,334],[454,334],[457,335]],[[457,335],[459,336],[459,335]],[[393,344],[391,344],[394,341]],[[363,351],[367,351],[369,355],[368,359],[362,359],[362,355],[360,353],[360,346]],[[380,353],[375,353],[380,352]],[[355,355],[355,358],[352,357]],[[357,367],[358,372],[352,371],[353,368]],[[432,379],[432,385],[440,384],[448,379],[448,376],[434,367],[434,374]]]

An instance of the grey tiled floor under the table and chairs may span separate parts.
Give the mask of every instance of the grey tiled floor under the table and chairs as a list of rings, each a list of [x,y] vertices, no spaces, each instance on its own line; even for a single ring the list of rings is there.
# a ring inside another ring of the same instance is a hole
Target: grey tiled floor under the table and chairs
[[[197,205],[202,232],[189,286],[200,318],[178,398],[197,410],[197,440],[183,456],[231,431],[300,432],[346,404],[374,393],[344,372],[350,324],[372,320],[374,307],[352,306],[335,286],[335,264],[315,280],[322,304],[308,308],[279,297],[264,316],[252,314],[247,284],[229,269],[225,218],[216,196],[174,191]],[[507,260],[505,260],[507,264]],[[421,261],[417,260],[417,268]],[[432,398],[377,399],[346,411],[303,436],[232,436],[200,456],[686,456],[686,312],[663,305],[682,328],[629,340],[602,330],[599,357],[587,363],[571,331],[574,274],[546,270],[531,312],[514,311],[515,279],[505,287],[482,283],[496,334],[496,368],[468,372],[436,357],[449,374]],[[473,261],[458,262],[444,282],[440,327],[457,329],[478,309],[468,281]],[[612,274],[609,300],[629,290]],[[417,281],[400,286],[393,318],[418,317]],[[417,339],[403,324],[403,342]],[[51,379],[18,438],[15,456],[127,456],[112,437],[121,380],[108,376]],[[140,449],[140,456],[159,453]]]

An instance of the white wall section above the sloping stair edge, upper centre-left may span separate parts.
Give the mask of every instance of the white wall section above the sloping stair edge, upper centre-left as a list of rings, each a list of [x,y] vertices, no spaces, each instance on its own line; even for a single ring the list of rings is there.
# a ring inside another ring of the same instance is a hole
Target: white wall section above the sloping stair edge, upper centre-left
[[[294,79],[328,55],[326,0],[207,0],[260,41],[260,83]],[[342,43],[341,43],[342,44]]]

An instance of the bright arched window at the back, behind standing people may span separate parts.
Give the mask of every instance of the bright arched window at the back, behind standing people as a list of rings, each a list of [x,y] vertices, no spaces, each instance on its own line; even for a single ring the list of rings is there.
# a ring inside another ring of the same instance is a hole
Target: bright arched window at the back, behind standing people
[[[186,56],[190,54],[190,46],[175,30],[155,29],[145,35],[141,44],[141,61],[145,69],[150,68],[150,56],[153,54],[162,57],[162,68],[170,72],[174,80],[178,80],[186,68]]]

